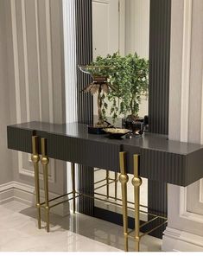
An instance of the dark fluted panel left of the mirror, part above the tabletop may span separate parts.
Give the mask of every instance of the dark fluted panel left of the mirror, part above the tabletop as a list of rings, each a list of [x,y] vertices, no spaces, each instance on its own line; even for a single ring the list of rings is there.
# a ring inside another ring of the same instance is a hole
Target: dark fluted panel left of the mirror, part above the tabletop
[[[78,65],[92,61],[92,1],[76,0],[76,59]],[[91,77],[77,68],[78,118],[80,123],[92,122],[92,95],[81,90],[91,82]]]

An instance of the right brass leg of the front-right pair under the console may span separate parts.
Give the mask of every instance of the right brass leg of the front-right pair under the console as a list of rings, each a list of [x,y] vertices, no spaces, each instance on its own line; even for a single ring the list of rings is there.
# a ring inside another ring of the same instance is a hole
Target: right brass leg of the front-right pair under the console
[[[134,155],[134,177],[132,184],[134,186],[134,200],[135,200],[135,242],[136,252],[140,250],[140,186],[142,179],[139,176],[139,155]]]

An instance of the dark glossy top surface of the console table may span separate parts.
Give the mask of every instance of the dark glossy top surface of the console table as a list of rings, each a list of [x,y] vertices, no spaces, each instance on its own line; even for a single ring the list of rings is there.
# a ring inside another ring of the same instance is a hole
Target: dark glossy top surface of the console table
[[[62,125],[43,122],[29,122],[10,126],[21,129],[28,129],[30,131],[45,131],[52,134],[65,135],[71,138],[83,138],[108,144],[129,145],[143,148],[146,150],[160,150],[179,155],[187,155],[196,150],[203,149],[203,145],[201,144],[191,144],[180,141],[168,140],[168,137],[165,135],[149,132],[146,132],[142,138],[124,137],[121,139],[109,138],[109,136],[106,134],[89,134],[87,131],[87,125],[79,124],[76,122]]]

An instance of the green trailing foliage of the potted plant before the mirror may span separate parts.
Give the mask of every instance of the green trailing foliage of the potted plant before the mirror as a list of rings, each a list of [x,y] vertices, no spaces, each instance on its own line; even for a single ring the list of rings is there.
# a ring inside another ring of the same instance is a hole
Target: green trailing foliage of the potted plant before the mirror
[[[140,58],[137,54],[121,56],[118,53],[98,56],[92,66],[111,66],[104,72],[109,77],[109,83],[114,87],[103,99],[103,115],[108,108],[105,99],[112,102],[110,114],[113,120],[119,114],[137,117],[141,95],[148,93],[149,61]],[[117,100],[118,99],[118,100]]]

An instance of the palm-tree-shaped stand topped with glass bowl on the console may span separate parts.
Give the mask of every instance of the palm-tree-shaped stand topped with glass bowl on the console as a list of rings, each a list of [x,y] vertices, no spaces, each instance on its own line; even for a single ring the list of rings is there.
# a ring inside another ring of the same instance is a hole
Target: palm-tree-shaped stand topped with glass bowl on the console
[[[115,90],[115,86],[109,82],[109,73],[113,68],[111,66],[79,66],[80,71],[92,76],[92,83],[86,86],[83,91],[85,93],[98,93],[98,123],[93,126],[88,126],[88,132],[93,134],[103,134],[104,128],[112,127],[110,123],[106,121],[105,112],[102,111],[105,95]]]

